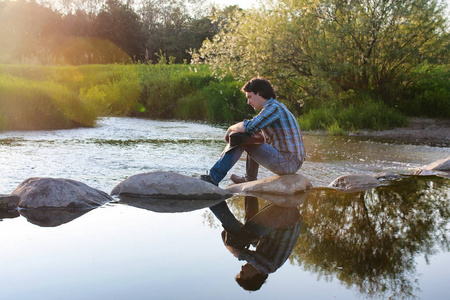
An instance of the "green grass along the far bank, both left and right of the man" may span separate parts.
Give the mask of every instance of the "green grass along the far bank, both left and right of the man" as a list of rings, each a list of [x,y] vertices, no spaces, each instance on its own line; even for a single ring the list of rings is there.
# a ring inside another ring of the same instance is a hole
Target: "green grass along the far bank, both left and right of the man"
[[[395,107],[364,91],[308,102],[300,127],[343,135],[404,126],[405,116],[449,118],[449,74],[448,66],[427,72]],[[215,78],[205,65],[0,65],[0,130],[93,126],[101,116],[229,124],[254,114],[242,84]]]

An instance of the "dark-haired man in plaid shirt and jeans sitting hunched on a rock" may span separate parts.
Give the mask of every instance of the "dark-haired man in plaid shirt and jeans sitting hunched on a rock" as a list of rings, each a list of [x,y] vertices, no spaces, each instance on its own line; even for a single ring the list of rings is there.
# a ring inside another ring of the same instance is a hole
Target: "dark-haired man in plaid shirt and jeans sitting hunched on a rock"
[[[246,176],[231,176],[234,183],[256,180],[259,165],[282,175],[294,174],[305,160],[305,148],[294,115],[286,106],[276,100],[277,96],[270,82],[265,78],[253,78],[241,89],[247,96],[247,103],[260,113],[251,120],[244,120],[230,126],[225,140],[231,142],[233,133],[262,134],[264,143],[244,143],[225,151],[210,169],[209,175],[201,179],[218,185],[228,171],[247,152]]]

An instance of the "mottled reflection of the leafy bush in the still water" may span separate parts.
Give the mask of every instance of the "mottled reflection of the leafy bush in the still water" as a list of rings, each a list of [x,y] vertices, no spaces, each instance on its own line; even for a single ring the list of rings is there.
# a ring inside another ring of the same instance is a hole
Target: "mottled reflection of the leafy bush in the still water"
[[[408,177],[373,190],[313,189],[293,259],[369,297],[415,298],[415,258],[449,251],[449,182]]]

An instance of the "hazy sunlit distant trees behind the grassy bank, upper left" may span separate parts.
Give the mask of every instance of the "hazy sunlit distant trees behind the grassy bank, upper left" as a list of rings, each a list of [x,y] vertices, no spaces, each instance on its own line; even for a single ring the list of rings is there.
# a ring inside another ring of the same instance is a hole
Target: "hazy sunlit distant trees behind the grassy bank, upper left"
[[[218,32],[212,10],[202,0],[1,0],[0,63],[183,63]]]

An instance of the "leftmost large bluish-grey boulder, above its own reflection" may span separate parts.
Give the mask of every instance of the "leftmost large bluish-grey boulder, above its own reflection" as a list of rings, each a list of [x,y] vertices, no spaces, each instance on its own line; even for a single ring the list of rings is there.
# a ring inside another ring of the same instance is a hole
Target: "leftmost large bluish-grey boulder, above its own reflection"
[[[29,178],[13,194],[20,196],[19,207],[22,208],[87,209],[114,200],[84,183],[62,178]]]

